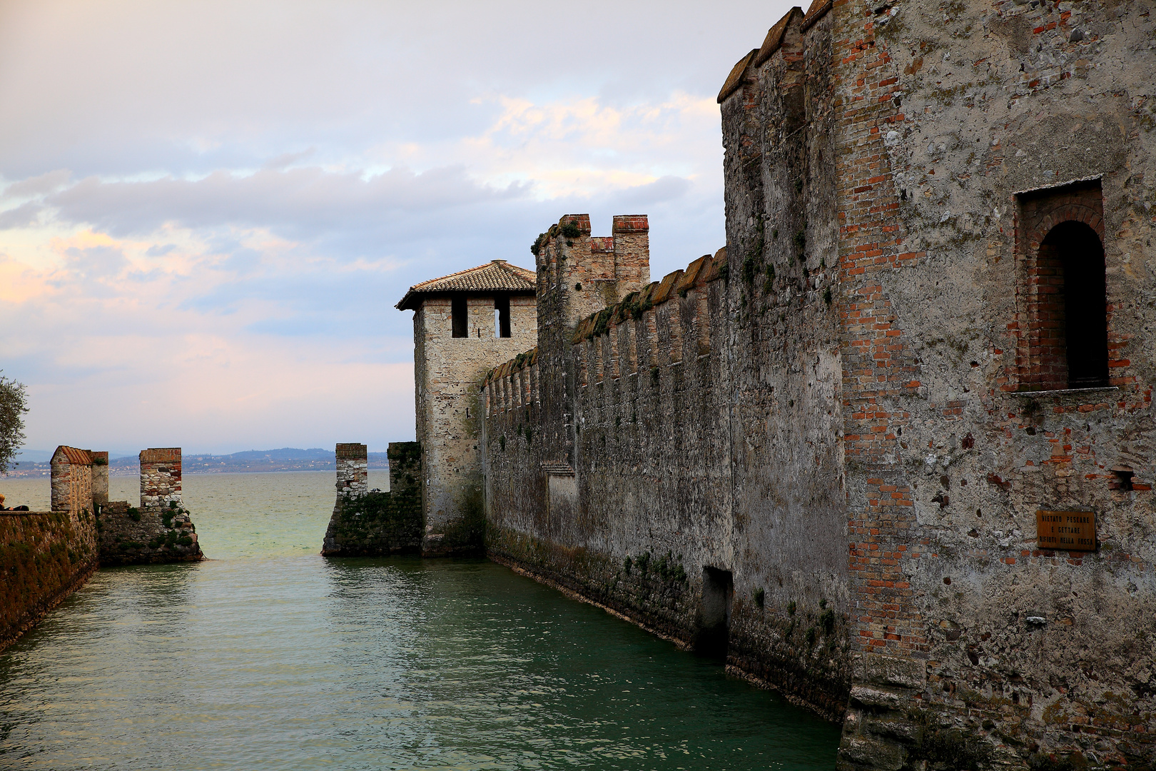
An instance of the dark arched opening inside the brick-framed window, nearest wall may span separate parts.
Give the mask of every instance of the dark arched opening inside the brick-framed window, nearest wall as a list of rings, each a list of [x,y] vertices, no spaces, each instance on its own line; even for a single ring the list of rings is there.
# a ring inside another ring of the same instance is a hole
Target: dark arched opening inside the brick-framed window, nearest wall
[[[1044,369],[1068,388],[1106,386],[1107,292],[1099,236],[1082,222],[1062,222],[1047,233],[1039,257],[1040,291],[1047,295],[1040,303]]]

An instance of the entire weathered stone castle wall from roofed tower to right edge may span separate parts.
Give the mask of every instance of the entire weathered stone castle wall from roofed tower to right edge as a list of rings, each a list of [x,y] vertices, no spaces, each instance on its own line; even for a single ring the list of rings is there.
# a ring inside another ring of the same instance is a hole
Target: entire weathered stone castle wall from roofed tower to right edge
[[[686,644],[733,592],[728,663],[845,713],[842,768],[1149,768],[1154,39],[1146,2],[787,14],[720,94],[725,252],[647,286],[584,216],[536,245],[491,554]]]

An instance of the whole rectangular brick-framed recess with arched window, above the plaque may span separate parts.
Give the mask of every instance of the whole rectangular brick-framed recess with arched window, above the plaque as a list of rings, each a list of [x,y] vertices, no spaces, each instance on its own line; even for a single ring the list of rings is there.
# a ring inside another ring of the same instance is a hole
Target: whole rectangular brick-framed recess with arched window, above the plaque
[[[1099,179],[1016,194],[1016,388],[1096,388],[1111,327]]]

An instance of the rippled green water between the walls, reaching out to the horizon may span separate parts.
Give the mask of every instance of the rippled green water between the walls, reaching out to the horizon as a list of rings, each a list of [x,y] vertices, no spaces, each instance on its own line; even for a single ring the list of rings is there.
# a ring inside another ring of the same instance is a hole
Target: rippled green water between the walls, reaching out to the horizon
[[[321,558],[332,472],[184,485],[210,559],[101,570],[0,654],[0,769],[835,765],[835,726],[501,565]]]

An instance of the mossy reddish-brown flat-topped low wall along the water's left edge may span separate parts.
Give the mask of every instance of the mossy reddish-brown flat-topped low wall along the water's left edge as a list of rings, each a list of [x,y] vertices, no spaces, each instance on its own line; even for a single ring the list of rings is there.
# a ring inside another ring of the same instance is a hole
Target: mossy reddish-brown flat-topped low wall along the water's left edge
[[[96,518],[90,512],[0,512],[0,651],[96,568]]]

